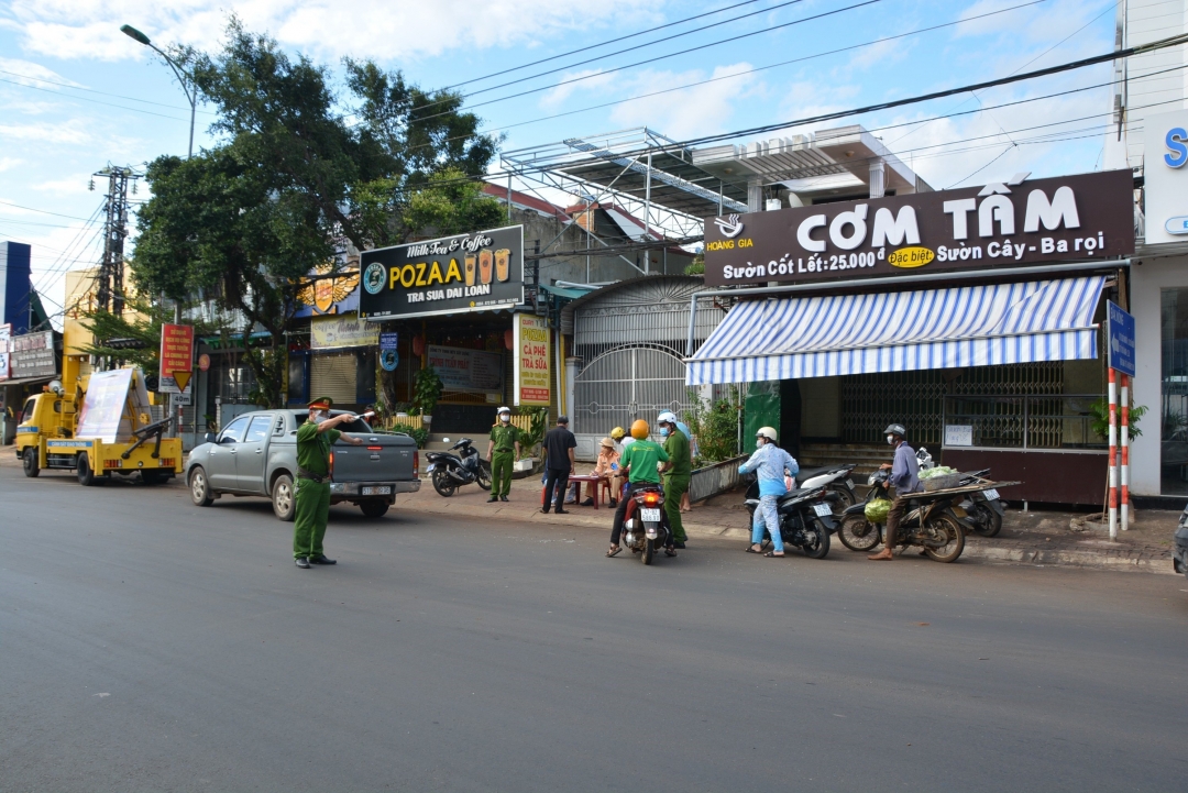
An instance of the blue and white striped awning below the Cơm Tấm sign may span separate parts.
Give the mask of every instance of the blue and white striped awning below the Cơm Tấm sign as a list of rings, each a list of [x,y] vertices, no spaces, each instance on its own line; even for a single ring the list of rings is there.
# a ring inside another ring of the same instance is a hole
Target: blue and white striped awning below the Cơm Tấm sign
[[[687,382],[752,382],[1098,356],[1105,275],[739,303]]]

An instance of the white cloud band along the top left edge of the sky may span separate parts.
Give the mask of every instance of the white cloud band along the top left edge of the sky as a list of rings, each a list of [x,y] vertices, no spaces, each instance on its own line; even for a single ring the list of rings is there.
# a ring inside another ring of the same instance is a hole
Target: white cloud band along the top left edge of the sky
[[[343,55],[406,61],[446,51],[531,46],[590,27],[613,30],[657,18],[647,0],[604,0],[598,15],[555,0],[244,0],[234,12],[251,31],[267,31],[283,45],[326,58]],[[120,33],[121,24],[154,43],[179,42],[211,50],[227,21],[220,0],[13,0],[11,14],[23,45],[61,58],[120,61],[146,47]]]

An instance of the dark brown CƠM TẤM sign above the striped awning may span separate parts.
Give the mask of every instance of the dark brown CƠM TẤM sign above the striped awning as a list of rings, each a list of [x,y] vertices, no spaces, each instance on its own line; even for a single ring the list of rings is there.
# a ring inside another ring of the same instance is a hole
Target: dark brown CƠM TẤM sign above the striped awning
[[[706,223],[706,284],[904,275],[1123,256],[1130,171],[987,184]]]

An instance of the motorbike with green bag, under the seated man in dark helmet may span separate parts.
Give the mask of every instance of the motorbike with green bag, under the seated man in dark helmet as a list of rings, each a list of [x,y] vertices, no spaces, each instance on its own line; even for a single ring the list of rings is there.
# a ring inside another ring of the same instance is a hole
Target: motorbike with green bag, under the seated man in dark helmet
[[[889,497],[889,476],[883,470],[871,474],[867,501]],[[965,551],[965,529],[953,506],[962,497],[963,494],[914,493],[910,507],[899,521],[899,537],[893,545],[917,546],[935,562],[955,562]],[[851,551],[870,551],[881,541],[885,532],[885,524],[866,520],[866,505],[859,503],[845,512],[838,538]]]

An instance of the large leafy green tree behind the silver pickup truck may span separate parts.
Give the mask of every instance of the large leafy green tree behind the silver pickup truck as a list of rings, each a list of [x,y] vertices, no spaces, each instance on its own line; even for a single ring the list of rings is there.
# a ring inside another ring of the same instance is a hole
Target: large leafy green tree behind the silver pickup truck
[[[457,94],[349,59],[346,90],[336,90],[328,69],[235,18],[219,53],[175,55],[217,112],[217,145],[150,164],[133,277],[147,293],[214,298],[240,312],[255,399],[277,407],[298,279],[349,246],[488,223],[498,207],[467,180],[481,176],[497,141],[460,112]],[[259,329],[268,336],[253,342]]]

